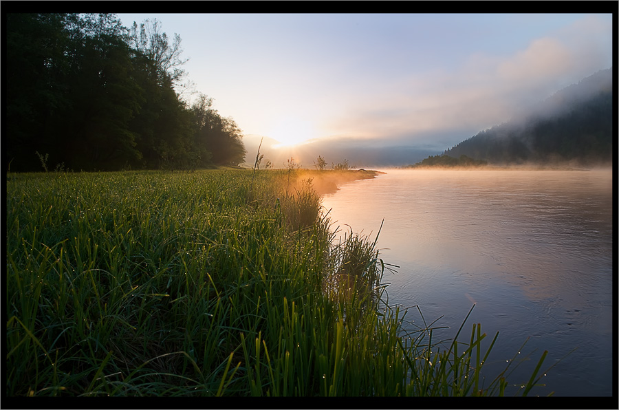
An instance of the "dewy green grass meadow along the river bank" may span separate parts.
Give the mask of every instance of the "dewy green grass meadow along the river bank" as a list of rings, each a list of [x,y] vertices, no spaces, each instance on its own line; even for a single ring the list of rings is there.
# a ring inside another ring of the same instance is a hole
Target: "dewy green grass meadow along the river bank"
[[[9,174],[6,395],[502,395],[479,325],[404,334],[376,241],[294,173]]]

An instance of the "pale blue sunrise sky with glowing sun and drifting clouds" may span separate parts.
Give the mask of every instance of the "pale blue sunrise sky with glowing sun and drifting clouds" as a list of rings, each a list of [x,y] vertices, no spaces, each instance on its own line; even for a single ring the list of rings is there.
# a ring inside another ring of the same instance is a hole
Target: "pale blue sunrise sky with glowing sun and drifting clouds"
[[[117,15],[180,35],[246,147],[444,151],[613,58],[611,14]]]

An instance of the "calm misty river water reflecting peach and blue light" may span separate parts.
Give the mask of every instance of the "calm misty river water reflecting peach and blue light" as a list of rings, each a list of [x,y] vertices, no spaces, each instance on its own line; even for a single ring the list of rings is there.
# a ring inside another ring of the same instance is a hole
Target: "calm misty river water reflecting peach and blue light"
[[[499,332],[487,383],[530,354],[508,377],[526,382],[547,350],[542,370],[555,366],[532,394],[611,396],[612,171],[386,172],[323,206],[342,234],[373,240],[384,219],[380,257],[400,266],[384,273],[390,305],[417,305],[427,323],[443,316],[437,340],[455,336],[475,304],[459,341],[473,323],[488,340]],[[406,319],[422,325],[417,308]]]

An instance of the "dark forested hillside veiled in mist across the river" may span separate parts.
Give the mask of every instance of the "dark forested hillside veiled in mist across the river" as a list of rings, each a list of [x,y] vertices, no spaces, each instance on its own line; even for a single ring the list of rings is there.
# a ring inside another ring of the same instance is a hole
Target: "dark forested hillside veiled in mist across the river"
[[[444,155],[468,155],[492,164],[612,162],[611,69],[558,91],[529,112],[477,133]]]

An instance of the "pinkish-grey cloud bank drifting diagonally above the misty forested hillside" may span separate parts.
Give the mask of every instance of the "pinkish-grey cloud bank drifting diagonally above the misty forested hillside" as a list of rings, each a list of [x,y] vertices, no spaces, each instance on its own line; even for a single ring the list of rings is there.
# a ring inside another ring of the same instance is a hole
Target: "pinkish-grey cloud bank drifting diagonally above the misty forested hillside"
[[[534,102],[611,65],[611,24],[585,17],[533,39],[507,56],[475,52],[454,69],[411,74],[382,83],[380,94],[356,95],[336,133],[360,138],[404,136],[415,144],[428,131],[492,127]],[[459,130],[461,130],[459,132]]]

